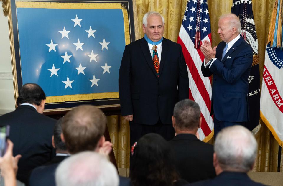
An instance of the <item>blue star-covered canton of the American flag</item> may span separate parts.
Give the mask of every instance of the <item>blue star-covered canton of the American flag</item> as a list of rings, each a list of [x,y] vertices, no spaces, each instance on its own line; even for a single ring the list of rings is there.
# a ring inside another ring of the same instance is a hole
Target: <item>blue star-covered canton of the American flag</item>
[[[198,22],[199,27],[197,28]],[[196,30],[200,31],[200,40],[203,40],[210,34],[211,28],[207,0],[189,0],[187,2],[182,24],[193,42],[195,42]]]

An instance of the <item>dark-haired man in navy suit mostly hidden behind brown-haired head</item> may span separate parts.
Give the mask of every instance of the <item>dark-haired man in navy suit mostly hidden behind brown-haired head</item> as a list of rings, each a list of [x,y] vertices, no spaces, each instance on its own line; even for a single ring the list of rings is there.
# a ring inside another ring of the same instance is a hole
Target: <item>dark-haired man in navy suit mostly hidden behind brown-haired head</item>
[[[69,156],[65,143],[61,140],[62,119],[60,118],[55,126],[52,136],[52,145],[56,149],[56,156],[43,166],[37,167],[32,171],[29,179],[29,186],[55,186],[55,170],[60,162]]]

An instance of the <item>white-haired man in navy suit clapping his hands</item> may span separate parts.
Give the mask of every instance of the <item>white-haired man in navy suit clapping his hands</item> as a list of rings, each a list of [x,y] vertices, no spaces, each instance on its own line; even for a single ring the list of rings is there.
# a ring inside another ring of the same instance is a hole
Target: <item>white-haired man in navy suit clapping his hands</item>
[[[206,40],[201,46],[205,77],[213,75],[211,114],[214,113],[214,134],[226,126],[246,125],[249,120],[248,85],[253,62],[251,47],[240,36],[241,22],[235,14],[226,14],[218,22],[222,40],[217,47]]]

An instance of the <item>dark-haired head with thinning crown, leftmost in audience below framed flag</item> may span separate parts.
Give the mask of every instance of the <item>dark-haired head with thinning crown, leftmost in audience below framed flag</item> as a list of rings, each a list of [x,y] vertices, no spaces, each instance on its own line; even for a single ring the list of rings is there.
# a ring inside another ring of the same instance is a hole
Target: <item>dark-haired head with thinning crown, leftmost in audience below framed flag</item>
[[[42,88],[35,83],[27,83],[22,86],[17,98],[17,105],[22,103],[30,103],[33,105],[40,105],[42,100],[45,100],[45,93]]]

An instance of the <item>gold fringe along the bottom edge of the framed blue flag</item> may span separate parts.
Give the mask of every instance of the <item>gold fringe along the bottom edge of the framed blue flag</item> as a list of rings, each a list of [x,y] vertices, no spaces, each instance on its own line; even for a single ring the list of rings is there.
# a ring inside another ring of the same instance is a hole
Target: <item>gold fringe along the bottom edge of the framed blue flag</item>
[[[106,99],[106,98],[119,98],[119,92],[48,96],[46,97],[46,103],[61,103],[66,101],[82,101],[82,100]]]

